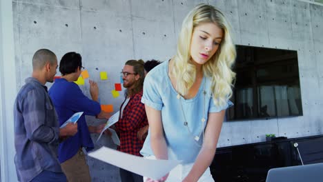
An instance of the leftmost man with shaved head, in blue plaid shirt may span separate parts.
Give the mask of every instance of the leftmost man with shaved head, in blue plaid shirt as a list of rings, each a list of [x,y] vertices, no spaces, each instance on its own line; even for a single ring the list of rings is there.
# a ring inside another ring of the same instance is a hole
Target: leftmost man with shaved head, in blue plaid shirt
[[[77,132],[77,124],[59,128],[55,108],[47,92],[57,70],[56,55],[38,50],[32,58],[32,77],[26,79],[14,103],[14,145],[19,181],[66,181],[57,160],[59,139]]]

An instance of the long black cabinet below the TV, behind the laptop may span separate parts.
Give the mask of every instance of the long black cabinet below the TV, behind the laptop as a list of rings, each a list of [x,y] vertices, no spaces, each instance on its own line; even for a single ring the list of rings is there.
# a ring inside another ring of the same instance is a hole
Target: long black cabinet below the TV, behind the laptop
[[[271,168],[301,165],[294,142],[320,138],[323,151],[323,135],[217,148],[211,174],[216,182],[264,182]]]

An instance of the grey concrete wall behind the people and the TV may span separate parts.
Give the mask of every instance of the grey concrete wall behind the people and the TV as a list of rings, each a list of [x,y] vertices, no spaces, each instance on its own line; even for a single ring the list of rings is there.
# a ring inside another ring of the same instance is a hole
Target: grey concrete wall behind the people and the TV
[[[80,52],[91,79],[99,82],[101,103],[123,100],[110,91],[128,59],[166,61],[175,52],[184,16],[198,3],[218,6],[231,21],[235,42],[266,48],[297,50],[303,117],[225,122],[219,147],[265,140],[276,136],[323,133],[323,6],[296,0],[69,0],[13,1],[17,88],[30,76],[32,54],[49,48],[57,57]],[[98,71],[108,72],[101,81]],[[88,84],[81,89],[88,94]],[[88,118],[89,123],[95,123]],[[101,121],[100,121],[101,122]],[[93,136],[95,139],[97,136]],[[115,148],[111,140],[97,143]],[[89,161],[93,181],[119,181],[117,168]]]

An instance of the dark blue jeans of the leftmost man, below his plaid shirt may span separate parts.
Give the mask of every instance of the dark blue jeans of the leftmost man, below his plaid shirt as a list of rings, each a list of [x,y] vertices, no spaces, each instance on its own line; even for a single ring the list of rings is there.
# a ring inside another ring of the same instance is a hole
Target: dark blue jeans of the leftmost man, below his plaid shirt
[[[51,171],[42,171],[30,182],[66,182],[66,176],[63,172],[51,172]]]

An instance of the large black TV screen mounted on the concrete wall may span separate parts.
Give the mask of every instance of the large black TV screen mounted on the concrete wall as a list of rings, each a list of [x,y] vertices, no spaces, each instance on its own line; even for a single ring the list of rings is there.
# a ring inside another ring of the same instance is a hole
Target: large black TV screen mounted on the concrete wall
[[[302,116],[297,51],[237,45],[227,121]]]

